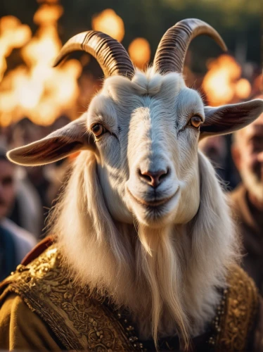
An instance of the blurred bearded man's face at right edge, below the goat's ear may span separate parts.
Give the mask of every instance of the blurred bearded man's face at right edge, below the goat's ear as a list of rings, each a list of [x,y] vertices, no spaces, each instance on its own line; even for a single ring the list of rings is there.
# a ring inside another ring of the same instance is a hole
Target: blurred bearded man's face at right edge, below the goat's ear
[[[232,147],[233,160],[246,189],[263,203],[263,114],[236,133]]]

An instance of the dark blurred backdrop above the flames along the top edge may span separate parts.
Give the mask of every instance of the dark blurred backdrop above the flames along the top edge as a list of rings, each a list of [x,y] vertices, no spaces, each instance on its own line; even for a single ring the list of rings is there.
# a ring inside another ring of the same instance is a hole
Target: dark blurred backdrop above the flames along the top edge
[[[260,35],[262,30],[261,0],[63,0],[64,14],[58,31],[62,42],[78,32],[91,29],[91,18],[105,8],[113,8],[124,21],[125,35],[122,44],[127,48],[135,37],[145,37],[150,42],[152,58],[162,34],[174,23],[184,18],[200,18],[216,28],[222,35],[229,53],[239,63],[262,62]],[[39,4],[34,0],[1,0],[0,16],[15,15],[27,23],[33,32],[34,12]],[[200,37],[191,44],[198,55],[192,60],[192,70],[205,72],[207,58],[221,51],[212,39]]]

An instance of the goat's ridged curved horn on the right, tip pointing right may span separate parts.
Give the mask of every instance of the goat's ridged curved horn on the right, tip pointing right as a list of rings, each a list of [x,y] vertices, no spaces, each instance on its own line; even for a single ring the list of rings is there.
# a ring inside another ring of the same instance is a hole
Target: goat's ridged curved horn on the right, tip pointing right
[[[153,61],[155,71],[182,73],[188,46],[200,34],[209,35],[224,51],[227,50],[222,37],[207,23],[195,18],[181,20],[163,35]]]

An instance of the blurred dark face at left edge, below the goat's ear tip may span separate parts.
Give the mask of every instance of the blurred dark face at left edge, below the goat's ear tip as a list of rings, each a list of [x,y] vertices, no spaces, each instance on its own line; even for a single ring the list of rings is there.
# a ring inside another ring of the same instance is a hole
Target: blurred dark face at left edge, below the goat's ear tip
[[[15,199],[15,165],[0,159],[0,220],[8,215]]]

